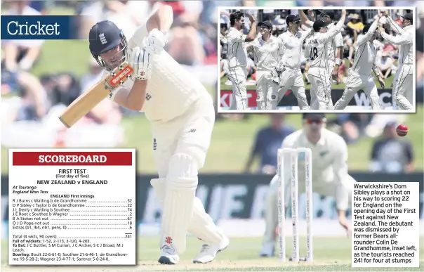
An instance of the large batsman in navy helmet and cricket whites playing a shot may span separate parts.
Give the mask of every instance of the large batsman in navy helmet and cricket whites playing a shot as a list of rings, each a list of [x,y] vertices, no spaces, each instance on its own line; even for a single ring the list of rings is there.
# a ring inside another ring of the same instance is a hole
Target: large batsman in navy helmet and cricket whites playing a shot
[[[89,33],[90,51],[106,72],[124,61],[133,66],[133,77],[124,84],[117,89],[105,86],[112,101],[145,112],[150,121],[159,171],[159,179],[151,184],[163,210],[159,263],[178,264],[187,231],[204,242],[194,263],[207,263],[229,244],[194,194],[215,110],[201,82],[164,51],[172,22],[171,6],[159,4],[128,42],[113,22],[98,22]]]

